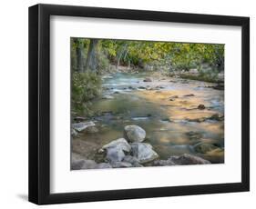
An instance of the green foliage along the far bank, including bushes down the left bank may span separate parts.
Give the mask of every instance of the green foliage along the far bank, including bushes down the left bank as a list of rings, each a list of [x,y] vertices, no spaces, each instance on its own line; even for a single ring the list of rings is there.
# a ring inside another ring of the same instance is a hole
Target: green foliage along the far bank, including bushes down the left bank
[[[224,70],[224,45],[189,44],[152,41],[98,40],[94,48],[95,72],[87,67],[87,54],[91,39],[71,38],[72,111],[89,115],[90,101],[100,92],[99,75],[108,72],[110,65],[131,65],[156,71],[188,71],[197,68],[199,75],[189,79],[215,82],[218,72]],[[210,71],[204,71],[207,64]],[[78,73],[78,71],[85,73]]]

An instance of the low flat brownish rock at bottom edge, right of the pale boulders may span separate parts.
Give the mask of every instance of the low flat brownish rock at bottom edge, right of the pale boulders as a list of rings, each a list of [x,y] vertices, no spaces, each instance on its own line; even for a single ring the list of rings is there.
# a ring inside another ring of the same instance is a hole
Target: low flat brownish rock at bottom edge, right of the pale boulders
[[[181,165],[181,164],[210,164],[210,161],[192,154],[182,154],[180,156],[171,156],[168,160],[159,160],[154,162],[155,165]]]

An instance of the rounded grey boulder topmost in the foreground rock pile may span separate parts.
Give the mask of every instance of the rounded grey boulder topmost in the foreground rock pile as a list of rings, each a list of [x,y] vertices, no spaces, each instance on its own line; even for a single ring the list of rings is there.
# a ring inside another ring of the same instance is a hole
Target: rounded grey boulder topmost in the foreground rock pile
[[[146,137],[146,132],[138,125],[126,125],[124,136],[130,142],[143,142]]]

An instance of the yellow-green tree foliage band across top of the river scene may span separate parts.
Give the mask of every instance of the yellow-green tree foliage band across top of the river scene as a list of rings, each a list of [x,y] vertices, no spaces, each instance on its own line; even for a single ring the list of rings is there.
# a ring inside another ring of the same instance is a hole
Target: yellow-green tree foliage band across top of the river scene
[[[77,45],[84,45],[86,56],[89,39],[77,39],[73,40],[72,51]],[[156,62],[178,71],[200,69],[204,63],[219,72],[224,70],[224,45],[102,39],[97,47],[97,57],[98,70],[104,70],[110,63],[143,67]]]

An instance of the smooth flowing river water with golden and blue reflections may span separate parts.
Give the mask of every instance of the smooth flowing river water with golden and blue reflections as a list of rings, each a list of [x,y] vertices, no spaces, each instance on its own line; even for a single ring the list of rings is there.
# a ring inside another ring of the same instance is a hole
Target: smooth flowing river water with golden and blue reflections
[[[143,81],[148,76],[152,82]],[[125,125],[137,124],[146,131],[145,142],[153,146],[160,159],[187,153],[214,164],[223,163],[224,121],[211,116],[224,115],[224,91],[213,89],[213,85],[147,73],[105,76],[102,98],[92,102],[97,113],[92,120],[99,132],[79,134],[73,151],[97,160],[102,145],[123,137]],[[199,109],[199,104],[206,108]],[[197,153],[193,145],[200,142],[219,149]]]

